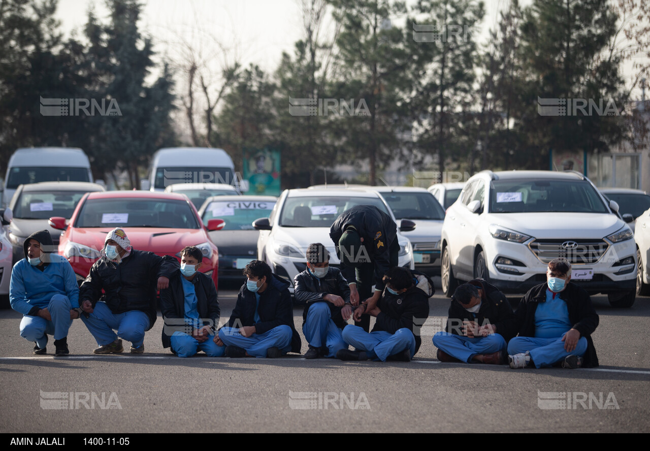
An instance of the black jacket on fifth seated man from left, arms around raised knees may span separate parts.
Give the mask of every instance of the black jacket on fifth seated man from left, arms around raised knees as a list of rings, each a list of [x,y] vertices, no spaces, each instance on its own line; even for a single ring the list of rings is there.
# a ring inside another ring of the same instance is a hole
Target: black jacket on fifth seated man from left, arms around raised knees
[[[331,319],[336,324],[336,327],[339,329],[345,327],[346,322],[343,320],[343,316],[341,316],[341,309],[343,307],[337,307],[333,303],[323,299],[325,294],[336,294],[337,296],[341,296],[345,303],[350,303],[350,286],[338,268],[330,266],[327,274],[322,279],[313,276],[309,272],[309,269],[306,269],[294,277],[293,286],[293,297],[296,302],[305,304],[305,309],[302,312],[303,326],[307,320],[309,307],[316,302],[326,302],[330,307]]]

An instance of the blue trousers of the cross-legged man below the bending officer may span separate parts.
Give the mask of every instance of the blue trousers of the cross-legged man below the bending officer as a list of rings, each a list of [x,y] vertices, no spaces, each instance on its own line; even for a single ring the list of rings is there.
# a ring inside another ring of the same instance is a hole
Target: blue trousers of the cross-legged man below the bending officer
[[[373,351],[377,358],[385,362],[389,355],[397,354],[405,349],[415,355],[415,337],[407,328],[397,329],[395,333],[386,331],[366,332],[359,326],[348,324],[343,329],[343,340],[362,351]]]

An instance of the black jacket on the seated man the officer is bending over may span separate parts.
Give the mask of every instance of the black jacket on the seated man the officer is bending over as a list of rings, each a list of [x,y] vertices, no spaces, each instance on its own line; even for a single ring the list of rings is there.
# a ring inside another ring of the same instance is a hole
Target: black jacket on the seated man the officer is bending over
[[[420,349],[422,339],[420,328],[429,316],[429,298],[434,295],[434,283],[421,272],[411,271],[417,284],[401,294],[391,294],[384,289],[378,306],[381,313],[377,315],[372,331],[395,333],[397,329],[407,328],[415,336],[415,352]]]

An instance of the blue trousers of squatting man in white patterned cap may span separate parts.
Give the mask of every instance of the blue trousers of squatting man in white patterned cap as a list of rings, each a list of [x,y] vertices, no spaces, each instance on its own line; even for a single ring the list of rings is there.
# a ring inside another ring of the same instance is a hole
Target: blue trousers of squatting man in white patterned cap
[[[94,311],[88,318],[82,314],[81,320],[99,346],[116,341],[119,335],[126,341],[130,341],[135,348],[139,348],[144,342],[144,331],[149,328],[149,316],[143,311],[112,313],[109,306],[101,301],[96,303]],[[116,334],[113,329],[118,333]]]

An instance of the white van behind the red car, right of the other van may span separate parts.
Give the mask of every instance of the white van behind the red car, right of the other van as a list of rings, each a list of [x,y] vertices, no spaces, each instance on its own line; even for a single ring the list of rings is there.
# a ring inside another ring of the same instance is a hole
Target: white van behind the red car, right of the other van
[[[151,158],[142,189],[164,191],[175,183],[224,183],[239,187],[235,165],[224,149],[164,148]]]

